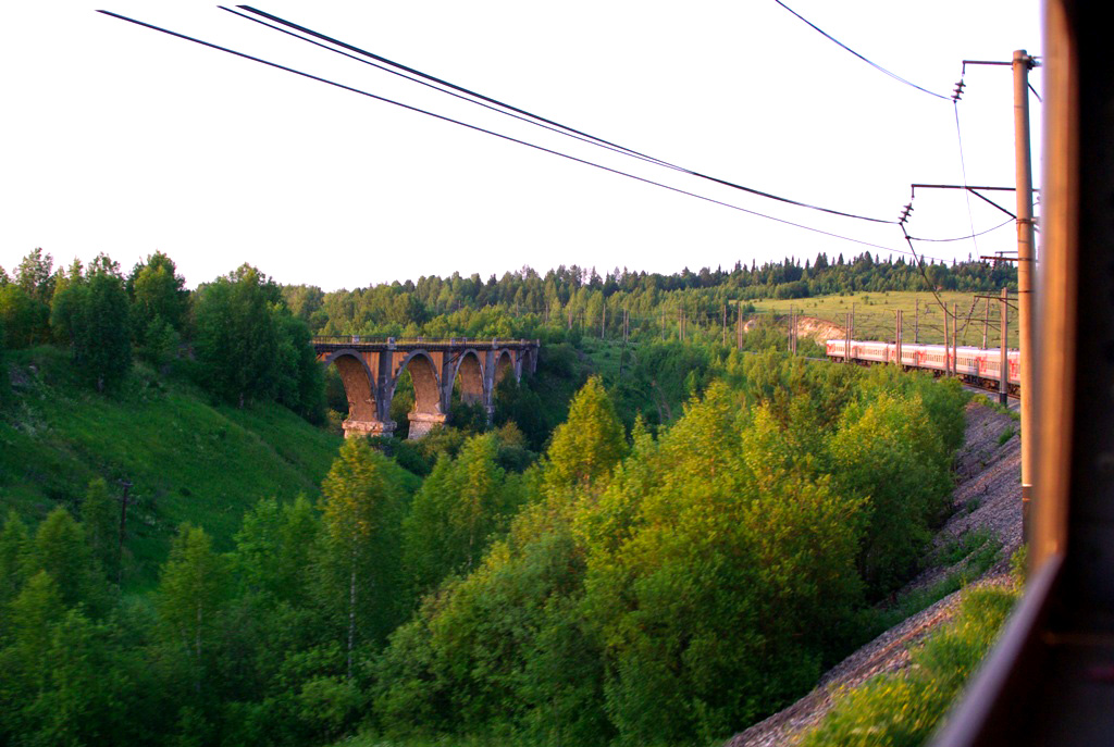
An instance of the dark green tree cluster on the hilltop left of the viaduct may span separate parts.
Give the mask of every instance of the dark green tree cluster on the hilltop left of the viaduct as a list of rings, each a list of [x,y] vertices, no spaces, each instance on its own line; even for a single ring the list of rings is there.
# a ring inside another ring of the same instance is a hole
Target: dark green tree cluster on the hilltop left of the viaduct
[[[278,285],[248,265],[190,293],[160,252],[125,274],[106,255],[55,269],[35,249],[13,277],[0,268],[0,331],[10,348],[68,347],[77,374],[99,392],[121,386],[138,357],[182,370],[231,404],[275,401],[313,421],[324,416],[307,326]]]

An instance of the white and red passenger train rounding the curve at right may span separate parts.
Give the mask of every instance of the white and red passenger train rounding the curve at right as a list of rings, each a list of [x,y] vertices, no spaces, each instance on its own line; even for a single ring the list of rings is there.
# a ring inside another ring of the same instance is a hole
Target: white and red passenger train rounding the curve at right
[[[851,354],[847,355],[847,340],[829,340],[825,353],[829,360],[850,360],[860,365],[897,363],[896,343],[878,341],[850,341]],[[927,368],[938,375],[952,373],[962,381],[998,391],[1001,380],[1001,351],[987,347],[949,347],[945,345],[901,344],[901,365],[905,368]],[[1018,396],[1022,385],[1020,352],[1006,352],[1006,385],[1010,396]]]

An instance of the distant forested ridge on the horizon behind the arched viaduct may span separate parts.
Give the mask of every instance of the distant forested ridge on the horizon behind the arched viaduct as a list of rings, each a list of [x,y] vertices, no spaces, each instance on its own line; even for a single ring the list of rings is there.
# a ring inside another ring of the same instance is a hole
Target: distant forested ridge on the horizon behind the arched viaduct
[[[622,336],[624,327],[661,335],[675,331],[684,315],[690,323],[720,326],[725,308],[761,298],[885,291],[998,291],[1016,285],[1007,263],[981,261],[935,263],[924,267],[905,258],[876,259],[864,252],[850,262],[820,254],[750,267],[673,275],[615,268],[600,276],[595,268],[564,265],[544,275],[529,267],[501,278],[479,275],[426,276],[352,291],[325,293],[292,285],[283,295],[293,314],[315,334],[393,336],[545,337],[566,334]],[[624,324],[624,321],[627,323]],[[731,324],[733,318],[729,318]]]

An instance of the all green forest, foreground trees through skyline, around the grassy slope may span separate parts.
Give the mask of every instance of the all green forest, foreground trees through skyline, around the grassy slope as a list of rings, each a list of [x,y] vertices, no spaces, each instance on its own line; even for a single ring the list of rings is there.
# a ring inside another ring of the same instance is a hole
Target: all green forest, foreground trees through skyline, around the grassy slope
[[[146,577],[128,570],[115,475],[6,505],[0,741],[729,737],[879,632],[876,605],[948,510],[967,395],[790,356],[761,325],[742,350],[715,324],[684,342],[620,325],[844,283],[1010,281],[985,263],[926,271],[866,254],[323,294],[244,266],[189,292],[162,254],[125,274],[107,257],[56,271],[32,252],[0,271],[13,429],[42,346],[66,351],[81,396],[126,404],[143,376],[326,431],[346,402],[313,334],[535,337],[543,354],[537,376],[501,385],[492,423],[459,410],[419,442],[336,439],[320,484],[252,497],[228,541],[176,528]]]

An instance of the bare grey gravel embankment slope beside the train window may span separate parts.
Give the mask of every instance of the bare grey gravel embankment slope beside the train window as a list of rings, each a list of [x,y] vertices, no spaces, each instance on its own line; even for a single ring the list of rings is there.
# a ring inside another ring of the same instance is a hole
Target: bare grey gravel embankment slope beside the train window
[[[937,534],[936,547],[944,547],[970,531],[996,537],[1001,543],[1000,560],[976,581],[979,584],[1007,582],[1009,558],[1022,541],[1018,429],[1017,421],[988,406],[983,397],[967,405],[966,442],[956,459],[955,513]],[[1014,435],[1000,443],[1007,431],[1013,431]],[[955,570],[956,567],[929,568],[902,592],[936,583]],[[812,692],[735,735],[725,747],[794,744],[805,729],[824,717],[831,708],[833,692],[856,687],[877,674],[907,667],[909,648],[949,620],[957,602],[958,592],[890,628],[829,670]]]

